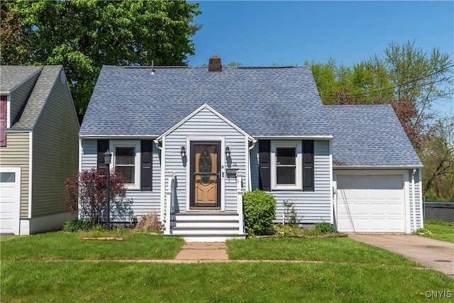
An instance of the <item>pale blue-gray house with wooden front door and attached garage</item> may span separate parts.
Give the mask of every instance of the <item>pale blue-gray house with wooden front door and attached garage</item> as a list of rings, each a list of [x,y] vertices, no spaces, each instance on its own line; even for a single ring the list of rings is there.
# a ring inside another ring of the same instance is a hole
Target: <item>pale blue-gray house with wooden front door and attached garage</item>
[[[289,201],[301,224],[338,231],[423,225],[422,165],[392,107],[323,106],[308,66],[104,66],[79,139],[79,170],[111,151],[133,215],[189,241],[244,237],[254,189],[275,196],[276,221]]]

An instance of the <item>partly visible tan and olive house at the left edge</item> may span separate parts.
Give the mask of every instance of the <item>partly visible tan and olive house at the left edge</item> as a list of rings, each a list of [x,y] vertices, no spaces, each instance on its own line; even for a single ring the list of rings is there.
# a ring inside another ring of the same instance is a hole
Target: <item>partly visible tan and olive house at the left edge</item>
[[[72,218],[79,122],[61,66],[0,67],[0,232],[28,235]]]

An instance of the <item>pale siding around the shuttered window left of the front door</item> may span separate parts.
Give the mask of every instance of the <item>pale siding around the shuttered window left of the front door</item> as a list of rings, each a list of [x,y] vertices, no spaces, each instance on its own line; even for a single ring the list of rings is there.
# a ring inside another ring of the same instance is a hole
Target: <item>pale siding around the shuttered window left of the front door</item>
[[[116,139],[115,139],[116,140]],[[117,141],[117,140],[116,140]],[[94,139],[82,139],[82,170],[96,168],[96,149],[97,141]],[[140,169],[140,167],[138,167]],[[155,211],[160,215],[160,183],[161,183],[161,156],[160,150],[153,143],[153,191],[140,192],[140,190],[130,189],[126,191],[126,199],[132,199],[133,215],[144,216]],[[121,218],[113,218],[114,220]]]

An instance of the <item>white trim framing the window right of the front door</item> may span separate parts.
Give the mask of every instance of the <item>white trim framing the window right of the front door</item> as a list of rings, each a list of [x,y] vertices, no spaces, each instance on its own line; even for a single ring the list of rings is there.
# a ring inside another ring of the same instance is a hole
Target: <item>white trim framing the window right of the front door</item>
[[[296,184],[277,184],[277,159],[276,159],[276,150],[277,148],[295,148],[296,149],[296,159],[295,159],[295,178]],[[271,190],[279,190],[279,189],[303,189],[303,167],[302,167],[302,160],[303,160],[303,151],[302,151],[302,143],[301,141],[271,141],[271,148],[270,148],[270,160],[271,160]]]

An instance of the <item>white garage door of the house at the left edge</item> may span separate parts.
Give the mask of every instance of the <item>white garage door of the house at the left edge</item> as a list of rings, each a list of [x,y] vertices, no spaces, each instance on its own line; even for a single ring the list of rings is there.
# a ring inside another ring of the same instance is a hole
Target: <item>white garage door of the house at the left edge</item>
[[[18,170],[0,171],[0,233],[16,232],[16,208],[20,195]]]

